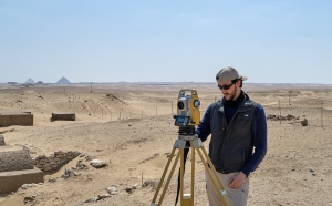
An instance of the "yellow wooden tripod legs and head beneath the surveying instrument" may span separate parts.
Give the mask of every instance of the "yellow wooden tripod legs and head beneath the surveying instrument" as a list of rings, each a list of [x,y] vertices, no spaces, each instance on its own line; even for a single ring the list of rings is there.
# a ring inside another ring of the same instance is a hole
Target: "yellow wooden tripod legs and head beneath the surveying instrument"
[[[188,146],[189,143],[190,145]],[[188,147],[191,147],[191,185],[190,185],[190,194],[184,194],[184,172],[185,172],[185,157],[184,157],[184,150],[185,148],[188,148]],[[160,198],[158,200],[158,204],[156,204],[156,199],[157,199],[157,196],[158,196],[158,193],[162,188],[162,185],[164,183],[164,179],[165,179],[165,176],[166,176],[166,173],[169,168],[169,165],[170,165],[170,162],[172,162],[172,158],[175,154],[175,151],[178,150],[178,153],[175,157],[175,161],[174,161],[174,164],[172,166],[172,169],[170,169],[170,173],[168,175],[168,178],[165,183],[165,187],[163,189],[163,193],[160,195]],[[170,153],[170,156],[167,161],[167,164],[166,164],[166,167],[164,169],[164,173],[163,173],[163,176],[160,178],[160,182],[158,184],[158,187],[157,187],[157,190],[154,195],[154,198],[153,198],[153,202],[151,204],[151,206],[160,206],[162,203],[163,203],[163,199],[165,197],[165,193],[166,193],[166,189],[169,185],[169,182],[170,182],[170,178],[174,174],[174,171],[175,171],[175,167],[178,163],[178,159],[180,158],[180,174],[179,174],[179,179],[180,179],[180,188],[179,188],[179,192],[180,192],[180,206],[194,206],[194,181],[195,181],[195,150],[197,151],[203,164],[204,164],[204,167],[207,172],[207,174],[209,175],[211,182],[212,182],[212,185],[214,185],[214,188],[216,192],[219,192],[218,195],[219,195],[219,198],[222,203],[222,206],[232,206],[232,203],[231,200],[229,199],[229,196],[227,194],[227,192],[224,189],[224,186],[217,175],[217,172],[210,161],[210,158],[208,157],[205,148],[204,148],[204,145],[201,143],[201,141],[198,138],[198,136],[196,134],[179,134],[179,137],[178,140],[175,141],[174,143],[174,146],[173,146],[173,150],[172,150],[172,153]],[[207,165],[208,163],[208,165]],[[209,168],[210,167],[210,168]]]

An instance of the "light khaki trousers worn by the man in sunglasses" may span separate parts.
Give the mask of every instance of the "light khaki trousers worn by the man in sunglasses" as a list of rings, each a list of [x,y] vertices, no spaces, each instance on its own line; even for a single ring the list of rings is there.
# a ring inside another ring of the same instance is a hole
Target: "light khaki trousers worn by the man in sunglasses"
[[[230,179],[237,174],[237,173],[229,173],[229,174],[221,174],[218,173],[218,176],[221,181],[221,184],[224,188],[226,189],[227,194],[230,197],[230,200],[232,202],[234,206],[246,206],[247,205],[247,199],[248,199],[248,194],[249,194],[249,177],[246,178],[245,183],[240,188],[230,188],[228,186]],[[211,183],[211,179],[209,178],[208,174],[205,173],[206,177],[206,189],[207,189],[207,195],[209,199],[209,206],[222,206],[218,194],[216,193],[214,185]]]

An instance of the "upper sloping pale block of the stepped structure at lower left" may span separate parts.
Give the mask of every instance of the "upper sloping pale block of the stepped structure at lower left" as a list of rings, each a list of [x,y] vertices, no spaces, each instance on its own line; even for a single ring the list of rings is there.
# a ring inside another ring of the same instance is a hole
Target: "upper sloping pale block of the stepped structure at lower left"
[[[33,169],[28,150],[0,151],[0,172]]]

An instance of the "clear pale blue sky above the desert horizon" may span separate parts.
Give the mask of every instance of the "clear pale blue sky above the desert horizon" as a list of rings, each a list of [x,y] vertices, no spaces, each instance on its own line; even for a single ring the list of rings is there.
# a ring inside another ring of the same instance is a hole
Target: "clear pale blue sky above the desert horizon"
[[[332,1],[0,1],[0,82],[332,81]]]

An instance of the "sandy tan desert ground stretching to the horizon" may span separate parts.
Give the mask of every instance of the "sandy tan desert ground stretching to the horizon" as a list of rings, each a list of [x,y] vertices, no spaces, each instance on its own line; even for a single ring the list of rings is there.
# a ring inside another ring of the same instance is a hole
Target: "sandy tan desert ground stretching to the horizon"
[[[34,115],[33,126],[0,127],[7,145],[28,147],[32,158],[59,150],[81,154],[59,171],[44,173],[43,184],[1,195],[0,206],[151,205],[178,137],[173,115],[184,87],[197,90],[201,116],[210,103],[222,97],[215,83],[0,85],[0,110]],[[332,205],[332,85],[245,83],[243,91],[263,105],[267,115],[308,120],[307,126],[294,120],[268,120],[268,153],[250,175],[248,205]],[[52,122],[53,112],[75,113],[76,121]],[[92,167],[93,158],[107,166]],[[62,178],[79,161],[87,169],[75,169],[79,175]],[[189,156],[188,167],[190,161]],[[207,206],[198,155],[195,162],[195,205]],[[137,187],[131,189],[134,185]],[[111,186],[118,194],[85,203],[107,194]],[[176,188],[177,178],[173,178],[163,205],[174,205]],[[24,204],[32,196],[35,198]]]

